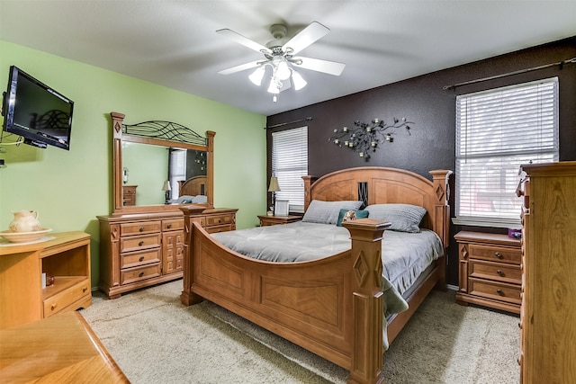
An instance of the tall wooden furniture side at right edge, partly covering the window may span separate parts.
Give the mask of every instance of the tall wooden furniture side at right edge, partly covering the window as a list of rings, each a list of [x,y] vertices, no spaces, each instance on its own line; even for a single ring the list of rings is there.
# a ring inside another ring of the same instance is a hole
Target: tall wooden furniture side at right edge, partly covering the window
[[[576,383],[576,162],[522,165],[523,383]]]

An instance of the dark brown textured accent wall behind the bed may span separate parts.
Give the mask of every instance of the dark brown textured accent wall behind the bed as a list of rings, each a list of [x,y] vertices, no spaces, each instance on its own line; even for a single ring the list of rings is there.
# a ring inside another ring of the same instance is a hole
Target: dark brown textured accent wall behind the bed
[[[445,85],[455,85],[478,78],[540,67],[574,57],[576,57],[576,36],[268,116],[268,127],[307,117],[312,118],[311,121],[268,129],[268,159],[270,159],[272,132],[308,125],[309,174],[321,176],[348,167],[380,165],[408,169],[431,178],[428,174],[429,170],[455,170],[455,97],[457,94],[468,94],[558,76],[560,81],[560,160],[576,160],[576,64],[568,64],[563,68],[554,66],[474,85],[464,85],[450,91],[443,90]],[[394,141],[384,143],[367,162],[355,152],[329,142],[334,129],[352,126],[354,121],[369,122],[374,118],[390,121],[394,117],[399,119],[405,117],[409,121],[414,121],[410,130],[411,135],[406,134],[403,129],[398,129],[394,135]],[[269,173],[270,161],[268,161]],[[455,191],[454,177],[451,190]],[[454,193],[450,201],[451,206],[454,207]],[[454,216],[454,209],[452,216]],[[454,236],[461,229],[503,231],[498,228],[462,228],[452,225],[451,235]],[[449,249],[448,283],[458,284],[458,255],[454,240]]]

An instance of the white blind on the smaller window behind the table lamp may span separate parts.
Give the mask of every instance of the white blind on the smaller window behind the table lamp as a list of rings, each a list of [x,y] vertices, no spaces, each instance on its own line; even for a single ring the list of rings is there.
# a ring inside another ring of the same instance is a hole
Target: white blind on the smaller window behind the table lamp
[[[308,174],[308,127],[272,134],[272,174],[278,178],[276,200],[287,200],[291,212],[304,211],[304,181]]]

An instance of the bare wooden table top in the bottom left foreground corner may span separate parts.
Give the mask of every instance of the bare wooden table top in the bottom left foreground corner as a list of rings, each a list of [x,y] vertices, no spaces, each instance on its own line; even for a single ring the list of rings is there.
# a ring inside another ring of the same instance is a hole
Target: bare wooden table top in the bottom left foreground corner
[[[76,311],[0,330],[0,381],[129,383]]]

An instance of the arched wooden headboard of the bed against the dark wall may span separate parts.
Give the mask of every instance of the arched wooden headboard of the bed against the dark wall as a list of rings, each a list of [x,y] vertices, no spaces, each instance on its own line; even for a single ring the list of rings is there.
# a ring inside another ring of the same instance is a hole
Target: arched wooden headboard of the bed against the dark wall
[[[419,205],[428,211],[420,226],[434,230],[446,247],[450,219],[448,178],[452,171],[437,170],[430,174],[433,181],[403,169],[361,166],[320,178],[304,176],[304,209],[308,209],[312,200]]]

